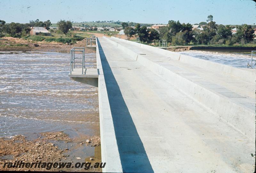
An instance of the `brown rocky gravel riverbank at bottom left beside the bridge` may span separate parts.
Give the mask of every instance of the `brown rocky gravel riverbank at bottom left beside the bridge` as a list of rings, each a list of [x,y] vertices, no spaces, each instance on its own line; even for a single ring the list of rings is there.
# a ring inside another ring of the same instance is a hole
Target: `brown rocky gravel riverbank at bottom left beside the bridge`
[[[23,162],[101,162],[100,153],[84,158],[78,157],[74,150],[95,147],[100,152],[100,136],[79,136],[71,139],[63,132],[40,133],[30,136],[16,135],[0,138],[0,170],[47,171],[46,168],[3,168],[4,163]],[[50,171],[90,171],[101,172],[100,168],[52,168]]]

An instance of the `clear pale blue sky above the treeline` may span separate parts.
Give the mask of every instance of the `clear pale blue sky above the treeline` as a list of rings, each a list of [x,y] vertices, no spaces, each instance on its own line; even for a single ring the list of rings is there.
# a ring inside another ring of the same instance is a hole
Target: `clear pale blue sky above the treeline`
[[[256,24],[252,0],[0,0],[0,20],[120,20],[166,24],[169,20],[199,23],[213,15],[217,24]],[[28,8],[29,7],[29,8]]]

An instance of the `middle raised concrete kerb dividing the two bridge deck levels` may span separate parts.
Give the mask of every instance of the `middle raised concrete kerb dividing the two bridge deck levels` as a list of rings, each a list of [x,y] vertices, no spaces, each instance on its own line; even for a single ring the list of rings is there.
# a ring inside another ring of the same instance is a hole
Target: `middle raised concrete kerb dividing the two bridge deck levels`
[[[138,61],[140,64],[142,64],[149,70],[153,71],[154,73],[161,76],[168,82],[172,83],[181,92],[185,93],[186,95],[194,99],[197,103],[203,105],[212,113],[220,116],[222,120],[236,128],[250,140],[255,140],[255,112],[253,110],[249,110],[248,108],[245,108],[243,105],[239,103],[234,103],[230,99],[228,99],[228,97],[223,97],[223,95],[220,95],[219,93],[209,88],[205,88],[204,86],[198,83],[194,83],[180,76],[179,74],[176,74],[170,71],[169,69],[164,68],[161,65],[148,60],[142,55],[133,52],[129,48],[124,47],[113,40],[110,40],[106,37],[105,39],[107,39],[120,49],[124,50],[126,53],[131,54],[131,57],[134,61]],[[120,40],[121,39],[118,39],[118,41]],[[139,47],[138,44],[140,43],[132,42],[132,44],[136,44],[136,46]],[[223,68],[223,66],[221,68]]]

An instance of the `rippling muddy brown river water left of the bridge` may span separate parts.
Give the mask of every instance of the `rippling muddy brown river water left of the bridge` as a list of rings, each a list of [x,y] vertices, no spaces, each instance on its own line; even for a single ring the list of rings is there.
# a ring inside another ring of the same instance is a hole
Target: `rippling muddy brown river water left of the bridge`
[[[86,66],[96,67],[95,54]],[[0,54],[0,137],[50,131],[99,135],[98,89],[71,81],[69,54]]]

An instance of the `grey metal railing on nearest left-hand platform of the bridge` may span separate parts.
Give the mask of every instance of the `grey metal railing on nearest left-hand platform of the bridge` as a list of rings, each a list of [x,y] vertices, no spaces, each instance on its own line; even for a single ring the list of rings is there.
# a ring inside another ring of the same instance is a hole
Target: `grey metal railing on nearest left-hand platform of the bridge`
[[[82,58],[76,58],[76,52],[82,52]],[[84,74],[84,47],[73,47],[70,50],[70,74],[74,71],[75,64],[82,64],[82,75]],[[76,62],[76,59],[82,59],[82,62]]]

